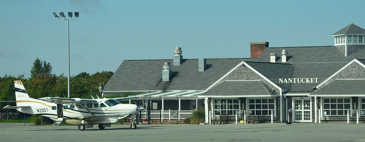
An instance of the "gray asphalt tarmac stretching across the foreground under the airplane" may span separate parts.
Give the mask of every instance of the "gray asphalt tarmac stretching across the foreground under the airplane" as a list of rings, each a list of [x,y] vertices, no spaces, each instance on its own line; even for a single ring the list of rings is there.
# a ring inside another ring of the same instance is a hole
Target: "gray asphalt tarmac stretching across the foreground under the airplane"
[[[0,123],[1,142],[74,142],[74,141],[181,141],[181,142],[242,142],[242,141],[365,141],[365,124],[360,123],[258,123],[222,125],[112,125],[99,130],[78,130],[77,126],[29,126],[23,123]]]

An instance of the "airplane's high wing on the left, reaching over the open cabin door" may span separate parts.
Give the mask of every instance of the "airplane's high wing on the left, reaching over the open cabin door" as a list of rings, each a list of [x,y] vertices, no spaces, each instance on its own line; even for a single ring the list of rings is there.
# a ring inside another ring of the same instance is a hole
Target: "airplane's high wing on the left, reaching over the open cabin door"
[[[38,100],[51,102],[55,104],[63,105],[78,105],[78,104],[88,104],[97,102],[95,99],[80,99],[80,98],[56,98],[56,97],[44,97]]]

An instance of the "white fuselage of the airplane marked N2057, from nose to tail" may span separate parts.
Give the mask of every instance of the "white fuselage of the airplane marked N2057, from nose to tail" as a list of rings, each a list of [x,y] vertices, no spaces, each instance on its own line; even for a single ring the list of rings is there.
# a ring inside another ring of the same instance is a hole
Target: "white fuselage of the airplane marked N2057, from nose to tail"
[[[64,118],[63,122],[72,125],[79,125],[81,124],[82,119],[84,119],[84,124],[118,123],[123,121],[123,119],[121,119],[123,116],[131,114],[129,117],[126,117],[131,118],[134,117],[135,114],[139,113],[137,105],[134,104],[120,104],[119,101],[108,98],[95,100],[97,100],[97,102],[86,104],[84,106],[63,105],[61,114]],[[110,102],[113,102],[114,104]],[[57,104],[55,103],[32,98],[29,101],[22,100],[17,101],[17,103],[27,103],[27,105],[31,106],[17,109],[22,113],[41,115],[53,120],[57,120],[57,118],[59,118],[59,116],[57,116]],[[87,107],[93,115],[83,107]],[[60,114],[58,113],[58,115]]]

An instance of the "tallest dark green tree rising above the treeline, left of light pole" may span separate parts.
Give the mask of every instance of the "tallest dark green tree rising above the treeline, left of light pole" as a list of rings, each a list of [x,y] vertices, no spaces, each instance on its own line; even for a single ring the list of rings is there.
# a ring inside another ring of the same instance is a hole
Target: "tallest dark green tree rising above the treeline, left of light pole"
[[[39,58],[35,59],[33,62],[32,69],[30,70],[30,77],[35,78],[38,74],[49,75],[52,74],[52,66],[46,61],[41,61]]]

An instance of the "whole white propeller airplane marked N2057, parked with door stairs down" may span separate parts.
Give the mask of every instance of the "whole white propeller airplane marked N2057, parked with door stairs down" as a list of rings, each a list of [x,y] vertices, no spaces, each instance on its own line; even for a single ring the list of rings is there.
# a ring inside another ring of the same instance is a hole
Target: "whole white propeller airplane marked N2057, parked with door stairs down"
[[[34,99],[28,96],[22,81],[14,81],[16,106],[5,106],[3,109],[17,109],[22,113],[41,115],[55,121],[53,127],[62,122],[78,125],[79,130],[99,124],[99,129],[111,127],[111,123],[122,122],[124,118],[132,118],[131,129],[136,129],[134,116],[145,110],[142,106],[122,104],[122,98],[55,98],[45,97]]]

